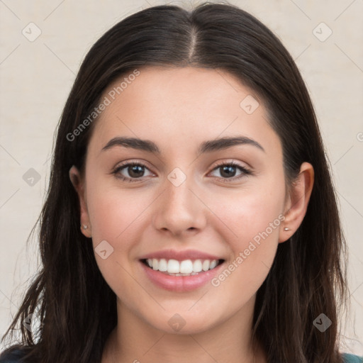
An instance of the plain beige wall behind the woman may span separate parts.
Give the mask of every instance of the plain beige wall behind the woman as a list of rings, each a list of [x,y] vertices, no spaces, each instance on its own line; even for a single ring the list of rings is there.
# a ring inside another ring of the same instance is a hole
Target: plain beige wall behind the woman
[[[344,325],[341,349],[363,354],[363,1],[230,2],[277,33],[311,92],[350,247],[352,313]],[[27,250],[26,238],[44,201],[53,132],[80,62],[108,28],[130,13],[158,4],[164,3],[0,0],[1,335],[36,271],[37,242],[33,240]],[[30,22],[41,31],[33,41],[28,38],[37,28],[28,26]],[[325,40],[330,30],[333,33]],[[33,186],[23,180],[30,168],[40,176]]]

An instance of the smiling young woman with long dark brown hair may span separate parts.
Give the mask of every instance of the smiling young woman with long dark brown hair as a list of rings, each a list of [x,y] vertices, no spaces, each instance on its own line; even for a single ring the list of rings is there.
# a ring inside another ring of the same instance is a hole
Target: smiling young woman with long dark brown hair
[[[311,100],[235,6],[155,6],[91,48],[40,251],[0,362],[361,361],[338,352],[345,241]]]

